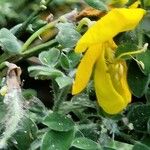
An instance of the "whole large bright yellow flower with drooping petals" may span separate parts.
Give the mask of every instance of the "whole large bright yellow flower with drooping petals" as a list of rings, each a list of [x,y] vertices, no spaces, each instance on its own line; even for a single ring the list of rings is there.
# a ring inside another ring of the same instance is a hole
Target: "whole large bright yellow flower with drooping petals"
[[[118,33],[134,29],[145,10],[116,8],[97,21],[78,41],[75,51],[85,52],[76,72],[72,94],[80,93],[93,72],[99,105],[109,114],[122,111],[131,101],[127,66],[114,56]]]

